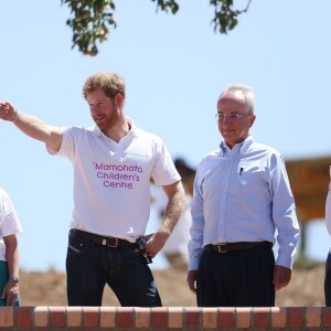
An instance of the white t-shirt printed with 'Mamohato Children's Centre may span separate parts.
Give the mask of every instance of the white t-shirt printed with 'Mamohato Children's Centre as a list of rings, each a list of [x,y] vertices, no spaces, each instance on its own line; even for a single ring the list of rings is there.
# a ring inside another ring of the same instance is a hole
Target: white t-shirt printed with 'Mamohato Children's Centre
[[[55,154],[67,157],[74,167],[71,228],[130,242],[146,231],[150,179],[157,185],[181,179],[162,140],[134,124],[118,143],[98,127],[67,128]]]

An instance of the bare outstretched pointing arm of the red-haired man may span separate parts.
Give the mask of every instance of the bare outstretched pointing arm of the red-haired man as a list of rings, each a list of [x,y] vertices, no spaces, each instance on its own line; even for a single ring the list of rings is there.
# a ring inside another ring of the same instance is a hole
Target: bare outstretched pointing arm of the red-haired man
[[[46,125],[41,119],[19,111],[11,103],[0,102],[0,118],[12,121],[22,132],[29,137],[43,141],[45,145],[58,151],[63,131],[61,128]]]

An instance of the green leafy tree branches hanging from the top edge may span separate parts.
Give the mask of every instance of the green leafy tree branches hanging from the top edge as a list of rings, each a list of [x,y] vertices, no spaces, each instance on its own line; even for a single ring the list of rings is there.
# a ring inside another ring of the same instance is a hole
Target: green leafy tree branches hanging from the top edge
[[[157,10],[175,14],[179,4],[174,0],[151,0],[157,1]],[[252,0],[247,0],[245,9],[234,9],[234,0],[210,0],[215,8],[215,15],[212,20],[214,31],[226,34],[238,23],[238,17],[247,12]],[[107,40],[109,28],[116,28],[115,0],[61,0],[72,11],[72,18],[66,24],[73,30],[73,46],[78,46],[85,55],[95,56],[98,53],[97,44]]]

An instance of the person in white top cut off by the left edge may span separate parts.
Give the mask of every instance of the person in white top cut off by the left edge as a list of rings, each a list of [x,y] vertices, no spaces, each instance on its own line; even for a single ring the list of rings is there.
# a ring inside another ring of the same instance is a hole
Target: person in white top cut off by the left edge
[[[20,254],[17,235],[22,233],[8,193],[0,188],[0,306],[20,306]]]

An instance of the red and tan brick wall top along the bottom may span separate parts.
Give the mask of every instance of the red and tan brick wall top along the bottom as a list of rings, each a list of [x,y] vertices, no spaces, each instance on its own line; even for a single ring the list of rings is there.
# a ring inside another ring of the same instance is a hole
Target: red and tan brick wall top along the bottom
[[[26,331],[39,328],[322,330],[331,328],[331,308],[2,307],[0,328],[26,328]]]

